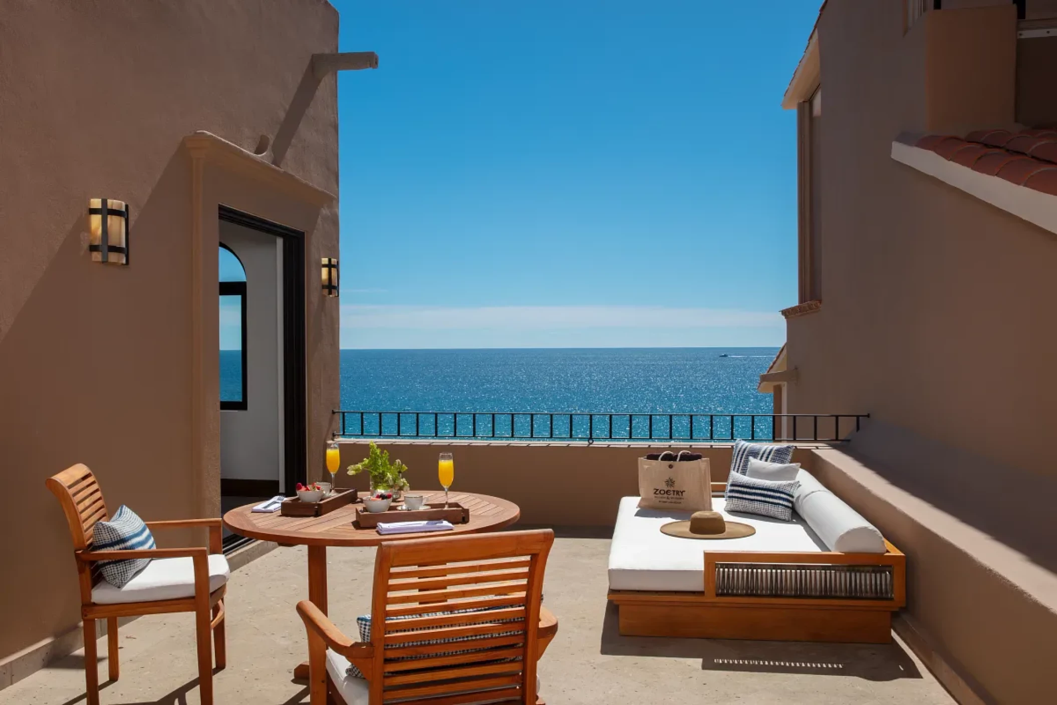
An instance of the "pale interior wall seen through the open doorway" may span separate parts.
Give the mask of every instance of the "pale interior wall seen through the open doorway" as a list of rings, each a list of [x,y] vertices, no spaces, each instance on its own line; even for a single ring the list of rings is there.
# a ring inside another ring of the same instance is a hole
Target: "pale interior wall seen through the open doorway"
[[[282,240],[221,222],[246,273],[246,408],[220,412],[220,477],[282,482]]]

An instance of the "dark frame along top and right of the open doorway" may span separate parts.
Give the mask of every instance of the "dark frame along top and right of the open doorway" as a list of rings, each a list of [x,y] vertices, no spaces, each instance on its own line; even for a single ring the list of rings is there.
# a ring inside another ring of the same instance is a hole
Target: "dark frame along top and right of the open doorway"
[[[283,479],[286,495],[307,482],[308,415],[304,353],[304,233],[220,204],[220,220],[282,239]]]

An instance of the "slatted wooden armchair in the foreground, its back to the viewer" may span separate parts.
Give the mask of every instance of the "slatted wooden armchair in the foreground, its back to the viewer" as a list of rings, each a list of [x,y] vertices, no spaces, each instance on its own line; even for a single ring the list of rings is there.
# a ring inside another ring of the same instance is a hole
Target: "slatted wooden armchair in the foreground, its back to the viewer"
[[[312,705],[542,705],[536,662],[558,631],[541,604],[553,543],[543,530],[381,544],[370,642],[297,605]],[[366,679],[347,675],[350,664]]]

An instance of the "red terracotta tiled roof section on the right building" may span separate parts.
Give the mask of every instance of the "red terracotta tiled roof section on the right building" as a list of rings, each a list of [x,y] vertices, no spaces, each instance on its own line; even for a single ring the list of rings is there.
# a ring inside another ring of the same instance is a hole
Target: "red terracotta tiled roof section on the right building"
[[[914,144],[973,171],[1057,196],[1057,128],[976,130],[965,140],[929,134]]]

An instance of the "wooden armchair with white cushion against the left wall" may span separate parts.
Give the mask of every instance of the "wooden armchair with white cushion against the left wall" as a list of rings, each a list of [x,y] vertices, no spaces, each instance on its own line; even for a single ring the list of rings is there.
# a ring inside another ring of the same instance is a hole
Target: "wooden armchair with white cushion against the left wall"
[[[203,705],[212,705],[212,655],[209,633],[217,651],[217,667],[226,662],[224,641],[224,593],[227,561],[221,550],[220,519],[145,522],[151,532],[164,528],[205,526],[209,548],[150,549],[135,551],[92,551],[95,523],[106,520],[107,504],[95,476],[85,465],[74,465],[49,478],[73,539],[80,585],[80,615],[85,623],[85,680],[88,705],[99,703],[99,675],[96,664],[95,620],[107,619],[108,665],[110,680],[118,678],[117,619],[142,614],[193,612],[198,631],[199,691]],[[125,558],[151,558],[151,563],[124,588],[104,581],[95,561]],[[187,559],[190,559],[189,561]]]

